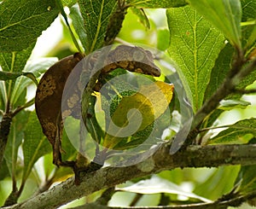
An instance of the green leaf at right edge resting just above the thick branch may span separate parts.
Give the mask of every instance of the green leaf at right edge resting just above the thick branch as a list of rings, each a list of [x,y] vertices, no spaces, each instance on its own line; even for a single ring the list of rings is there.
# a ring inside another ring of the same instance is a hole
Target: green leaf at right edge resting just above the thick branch
[[[228,129],[218,133],[208,143],[247,143],[252,136],[256,136],[256,119],[244,119],[229,125]]]

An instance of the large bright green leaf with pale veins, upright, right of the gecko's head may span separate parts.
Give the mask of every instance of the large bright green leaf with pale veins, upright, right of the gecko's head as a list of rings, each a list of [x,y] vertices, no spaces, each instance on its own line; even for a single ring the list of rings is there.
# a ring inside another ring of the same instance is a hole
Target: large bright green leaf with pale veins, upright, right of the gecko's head
[[[196,112],[202,105],[212,67],[224,37],[189,6],[167,9],[171,44],[168,53]]]

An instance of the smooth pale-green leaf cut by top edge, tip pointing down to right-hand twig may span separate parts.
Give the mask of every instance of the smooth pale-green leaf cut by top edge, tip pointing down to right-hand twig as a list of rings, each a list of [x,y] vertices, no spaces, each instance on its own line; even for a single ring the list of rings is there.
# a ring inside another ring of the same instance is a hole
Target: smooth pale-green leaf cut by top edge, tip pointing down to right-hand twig
[[[189,0],[195,9],[241,49],[240,0]]]

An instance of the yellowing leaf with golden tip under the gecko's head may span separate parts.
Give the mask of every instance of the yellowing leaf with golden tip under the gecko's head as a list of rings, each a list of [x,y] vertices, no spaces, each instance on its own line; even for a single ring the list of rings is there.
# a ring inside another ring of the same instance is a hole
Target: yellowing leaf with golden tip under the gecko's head
[[[113,148],[122,137],[144,130],[158,119],[172,100],[173,84],[157,81],[136,94],[123,96],[108,125],[103,146]]]

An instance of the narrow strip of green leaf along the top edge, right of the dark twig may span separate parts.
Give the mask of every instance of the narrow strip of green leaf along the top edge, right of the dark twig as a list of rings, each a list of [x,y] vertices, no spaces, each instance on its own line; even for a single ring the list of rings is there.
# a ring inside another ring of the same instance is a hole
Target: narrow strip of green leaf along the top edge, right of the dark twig
[[[176,7],[183,7],[186,4],[185,0],[148,0],[148,1],[142,1],[142,0],[129,0],[129,4],[132,6],[136,6],[137,8],[176,8]]]

